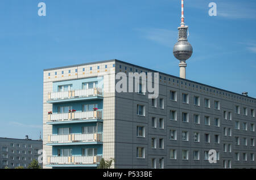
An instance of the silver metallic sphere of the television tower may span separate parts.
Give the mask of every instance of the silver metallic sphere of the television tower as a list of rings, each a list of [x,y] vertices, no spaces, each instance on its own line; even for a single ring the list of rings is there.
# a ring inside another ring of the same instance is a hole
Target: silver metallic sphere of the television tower
[[[188,41],[178,41],[174,45],[174,56],[179,60],[187,60],[193,53],[192,45]]]

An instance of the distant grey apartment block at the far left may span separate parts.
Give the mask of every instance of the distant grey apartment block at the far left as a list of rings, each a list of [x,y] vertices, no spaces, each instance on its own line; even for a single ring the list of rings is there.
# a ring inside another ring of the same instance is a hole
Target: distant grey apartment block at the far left
[[[33,159],[38,160],[40,149],[43,149],[42,140],[0,138],[0,168],[27,168]]]

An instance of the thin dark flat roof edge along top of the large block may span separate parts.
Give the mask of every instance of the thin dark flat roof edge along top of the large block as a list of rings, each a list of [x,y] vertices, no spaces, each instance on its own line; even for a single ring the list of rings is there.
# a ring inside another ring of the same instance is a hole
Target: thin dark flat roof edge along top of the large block
[[[138,68],[143,68],[144,70],[147,70],[147,71],[159,72],[159,71],[152,70],[152,69],[150,69],[150,68],[146,68],[146,67],[134,65],[134,64],[132,64],[132,63],[128,63],[128,62],[125,62],[125,61],[121,61],[121,60],[118,60],[118,59],[111,59],[111,60],[105,60],[105,61],[96,61],[96,62],[90,62],[90,63],[82,63],[82,64],[79,64],[79,65],[63,66],[63,67],[56,67],[56,68],[47,68],[47,69],[44,69],[44,71],[58,70],[58,69],[61,69],[61,68],[69,68],[69,67],[77,67],[77,66],[85,66],[85,65],[94,65],[94,64],[98,64],[98,63],[113,62],[113,61],[114,61],[114,62],[119,62],[119,63],[124,63],[124,64],[129,65],[129,66],[134,66],[134,67],[138,67]],[[225,89],[220,89],[220,88],[213,87],[213,86],[210,86],[210,85],[207,85],[207,84],[195,82],[195,81],[193,81],[193,80],[183,79],[183,78],[180,78],[180,77],[177,77],[177,76],[174,76],[174,75],[166,74],[166,73],[164,73],[164,72],[159,72],[159,73],[160,73],[160,74],[163,74],[163,75],[166,75],[166,76],[171,76],[171,77],[176,78],[176,79],[186,80],[187,82],[191,82],[191,83],[196,83],[196,84],[204,85],[204,86],[207,86],[207,87],[209,87],[209,88],[215,88],[215,89],[218,89],[218,90],[220,90],[220,91],[225,91],[225,92],[228,92],[228,93],[233,93],[233,94],[239,95],[239,96],[241,96],[241,97],[252,98],[253,100],[256,100],[256,98],[254,98],[254,97],[244,96],[244,95],[238,94],[238,93],[236,93],[236,92],[227,91],[227,90],[225,90]]]

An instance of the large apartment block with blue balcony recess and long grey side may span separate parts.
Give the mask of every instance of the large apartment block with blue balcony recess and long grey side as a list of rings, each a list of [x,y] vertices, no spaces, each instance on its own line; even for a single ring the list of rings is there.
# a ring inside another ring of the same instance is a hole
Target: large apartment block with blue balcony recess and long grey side
[[[159,96],[115,76],[156,72],[117,59],[44,70],[44,168],[256,168],[256,99],[159,72]],[[209,162],[209,151],[216,163]]]

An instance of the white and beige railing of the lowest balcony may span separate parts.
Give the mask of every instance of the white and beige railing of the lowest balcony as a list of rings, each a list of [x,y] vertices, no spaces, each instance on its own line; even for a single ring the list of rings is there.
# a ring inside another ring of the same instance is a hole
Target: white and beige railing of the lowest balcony
[[[102,156],[48,156],[48,164],[98,164]]]

